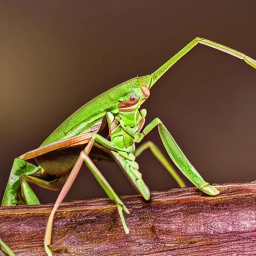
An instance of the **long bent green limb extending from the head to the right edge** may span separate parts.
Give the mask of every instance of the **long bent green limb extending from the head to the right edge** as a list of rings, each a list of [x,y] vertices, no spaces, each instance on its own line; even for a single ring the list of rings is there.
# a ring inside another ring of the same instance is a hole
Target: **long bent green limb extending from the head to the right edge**
[[[225,45],[222,45],[218,42],[214,42],[202,37],[196,37],[191,42],[189,42],[184,48],[178,51],[173,57],[171,57],[167,62],[165,62],[162,66],[160,66],[156,71],[154,71],[152,75],[152,83],[151,86],[173,65],[175,64],[182,56],[184,56],[189,50],[191,50],[197,43],[204,44],[206,46],[215,48],[217,50],[221,50],[226,52],[230,55],[233,55],[237,58],[243,59],[248,65],[256,68],[256,60],[252,59],[251,57],[245,55],[238,50],[232,49]],[[151,87],[150,86],[150,87]]]

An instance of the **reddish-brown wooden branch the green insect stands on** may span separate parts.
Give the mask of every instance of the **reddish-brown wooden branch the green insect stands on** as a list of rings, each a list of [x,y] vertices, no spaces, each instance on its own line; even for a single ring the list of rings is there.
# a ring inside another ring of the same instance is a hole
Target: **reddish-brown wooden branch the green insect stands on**
[[[122,196],[125,234],[106,198],[62,203],[53,225],[53,255],[256,255],[256,181],[152,192],[151,200]],[[45,255],[43,236],[52,204],[0,207],[0,237],[16,255]]]

